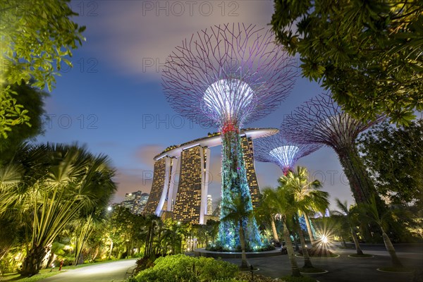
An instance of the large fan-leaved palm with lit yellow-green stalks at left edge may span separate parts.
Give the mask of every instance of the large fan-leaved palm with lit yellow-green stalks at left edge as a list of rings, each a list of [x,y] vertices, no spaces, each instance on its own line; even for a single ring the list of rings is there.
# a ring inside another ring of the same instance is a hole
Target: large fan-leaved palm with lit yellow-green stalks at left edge
[[[16,185],[0,183],[0,214],[19,209],[32,216],[21,272],[25,276],[39,272],[54,239],[75,216],[106,206],[116,185],[109,159],[77,145],[26,146],[14,162],[22,168],[22,180]]]

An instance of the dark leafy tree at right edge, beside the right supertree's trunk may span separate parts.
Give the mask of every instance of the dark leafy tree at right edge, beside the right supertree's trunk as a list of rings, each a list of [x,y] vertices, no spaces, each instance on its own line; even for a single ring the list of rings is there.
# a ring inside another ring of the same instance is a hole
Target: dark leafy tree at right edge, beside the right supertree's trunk
[[[423,204],[423,120],[406,128],[388,121],[374,126],[359,140],[359,149],[377,192],[393,204]]]

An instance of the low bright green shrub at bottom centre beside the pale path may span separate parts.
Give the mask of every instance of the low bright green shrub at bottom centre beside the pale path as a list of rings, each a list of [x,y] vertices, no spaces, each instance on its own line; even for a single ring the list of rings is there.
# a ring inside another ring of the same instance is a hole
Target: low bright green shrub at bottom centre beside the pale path
[[[141,271],[130,282],[221,281],[231,279],[238,267],[228,262],[206,258],[171,255],[159,257],[154,267]]]

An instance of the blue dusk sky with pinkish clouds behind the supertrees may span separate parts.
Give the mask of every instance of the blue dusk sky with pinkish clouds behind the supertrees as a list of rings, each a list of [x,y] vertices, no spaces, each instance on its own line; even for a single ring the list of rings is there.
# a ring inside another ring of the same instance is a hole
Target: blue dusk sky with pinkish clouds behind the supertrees
[[[64,68],[46,100],[45,134],[37,142],[78,142],[94,154],[106,154],[117,170],[118,192],[149,192],[153,157],[217,128],[202,128],[178,115],[161,89],[166,57],[183,39],[204,28],[224,23],[266,27],[273,1],[72,1],[73,18],[86,25],[87,41],[73,53],[73,68]],[[245,128],[278,128],[283,115],[324,92],[315,82],[298,78],[280,108]],[[209,194],[220,195],[220,149],[212,148]],[[348,180],[338,157],[324,147],[298,165],[323,180],[325,191],[353,203]],[[276,164],[256,162],[260,188],[276,187],[281,171]],[[333,208],[333,205],[332,205]]]

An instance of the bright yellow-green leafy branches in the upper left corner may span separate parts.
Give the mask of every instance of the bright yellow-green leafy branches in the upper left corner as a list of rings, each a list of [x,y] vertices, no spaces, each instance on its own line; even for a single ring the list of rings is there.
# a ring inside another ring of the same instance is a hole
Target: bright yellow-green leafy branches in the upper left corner
[[[78,16],[66,0],[1,0],[0,4],[0,135],[6,138],[13,126],[30,125],[28,109],[18,102],[10,86],[34,80],[34,87],[51,90],[61,63],[85,40],[70,18]]]

